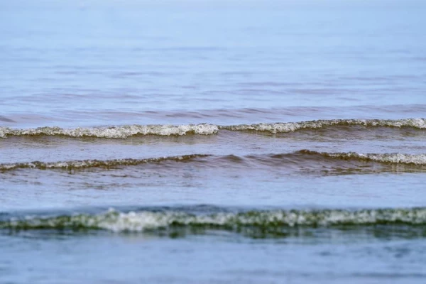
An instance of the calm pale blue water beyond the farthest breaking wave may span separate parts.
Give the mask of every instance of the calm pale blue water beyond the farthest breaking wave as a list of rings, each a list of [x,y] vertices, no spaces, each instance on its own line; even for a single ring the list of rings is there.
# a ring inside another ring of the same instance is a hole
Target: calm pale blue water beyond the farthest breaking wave
[[[425,101],[421,3],[405,9],[7,5],[0,111],[20,124],[173,123],[174,117],[141,113],[245,108],[300,108],[292,120],[348,118],[346,107],[371,105],[378,114],[354,115],[392,119],[421,113],[385,115],[383,108]],[[310,114],[303,107],[331,109]],[[275,121],[289,119],[281,112]]]

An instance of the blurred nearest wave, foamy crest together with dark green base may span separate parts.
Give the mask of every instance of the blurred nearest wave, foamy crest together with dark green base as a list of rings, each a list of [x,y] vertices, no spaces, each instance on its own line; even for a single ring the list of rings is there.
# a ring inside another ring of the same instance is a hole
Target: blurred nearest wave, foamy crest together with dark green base
[[[214,212],[214,213],[213,213]],[[51,214],[51,213],[50,213]],[[373,237],[425,236],[426,209],[364,209],[364,210],[245,210],[221,207],[153,207],[120,212],[109,209],[98,214],[74,213],[55,215],[4,214],[0,229],[11,234],[20,231],[91,231],[146,233],[179,236],[204,231],[229,231],[253,238],[315,236],[326,231],[364,231]],[[300,235],[298,235],[300,234]]]

